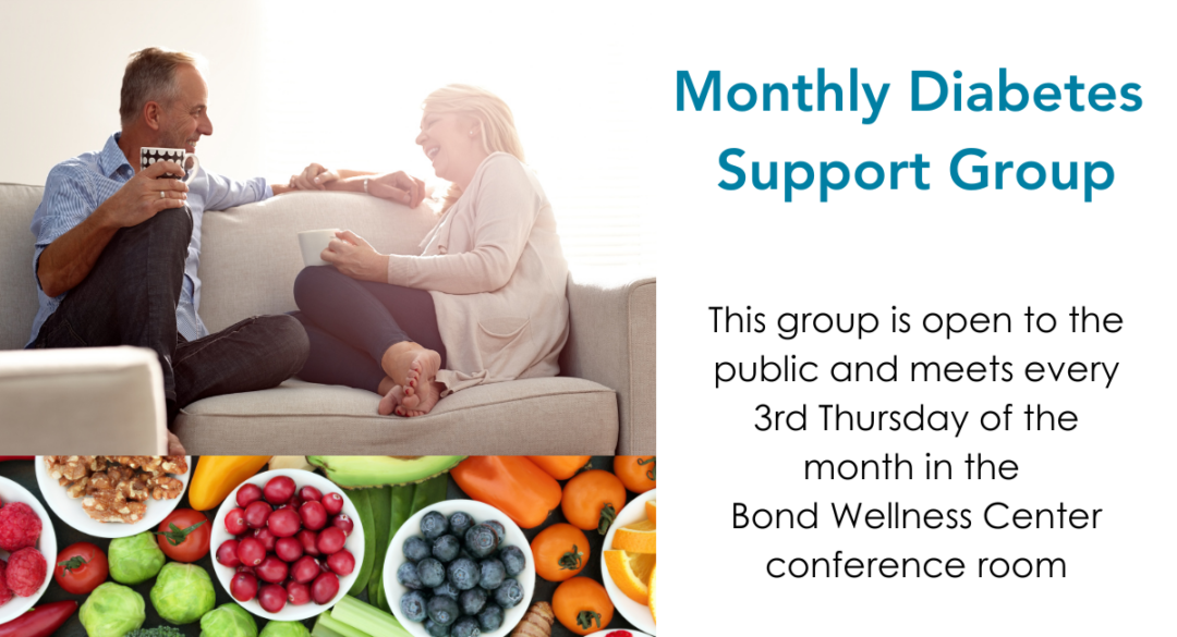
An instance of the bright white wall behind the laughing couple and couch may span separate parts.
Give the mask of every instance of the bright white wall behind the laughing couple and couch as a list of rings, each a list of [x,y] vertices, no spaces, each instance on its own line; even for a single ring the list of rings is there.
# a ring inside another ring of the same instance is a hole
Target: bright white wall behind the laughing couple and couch
[[[234,177],[285,182],[310,161],[431,177],[412,142],[420,102],[476,83],[514,110],[570,261],[652,271],[630,146],[630,100],[643,90],[632,27],[543,5],[430,6],[0,2],[0,182],[44,183],[54,163],[99,148],[119,126],[127,55],[146,46],[208,59],[214,134],[200,155]]]

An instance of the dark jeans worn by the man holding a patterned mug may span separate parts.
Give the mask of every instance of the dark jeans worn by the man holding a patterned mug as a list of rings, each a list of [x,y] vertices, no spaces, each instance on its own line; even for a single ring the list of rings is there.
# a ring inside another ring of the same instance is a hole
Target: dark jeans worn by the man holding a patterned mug
[[[267,389],[293,376],[308,344],[302,327],[290,316],[253,316],[192,342],[177,333],[175,306],[191,236],[187,208],[164,210],[115,233],[86,279],[41,326],[33,347],[155,350],[168,421],[200,398]]]

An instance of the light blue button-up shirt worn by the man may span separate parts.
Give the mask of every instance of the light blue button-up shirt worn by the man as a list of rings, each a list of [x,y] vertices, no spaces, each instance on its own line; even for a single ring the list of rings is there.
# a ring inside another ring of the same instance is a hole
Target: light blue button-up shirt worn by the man
[[[111,135],[100,152],[84,153],[49,170],[49,177],[45,182],[45,195],[29,226],[36,241],[36,252],[33,253],[33,279],[38,282],[36,296],[40,309],[33,321],[33,333],[28,337],[28,344],[36,340],[45,320],[58,309],[66,294],[69,294],[67,291],[51,297],[41,290],[40,280],[36,279],[36,263],[41,259],[41,252],[93,214],[134,174],[127,157],[122,155],[122,149],[119,148],[119,133]],[[180,293],[180,304],[175,308],[175,327],[185,338],[194,341],[208,335],[200,315],[197,314],[200,309],[200,277],[197,274],[200,267],[200,224],[205,210],[224,210],[273,195],[265,179],[233,181],[208,173],[202,166],[188,182],[187,203],[192,210],[192,241],[188,242],[188,256],[184,262],[184,291]]]

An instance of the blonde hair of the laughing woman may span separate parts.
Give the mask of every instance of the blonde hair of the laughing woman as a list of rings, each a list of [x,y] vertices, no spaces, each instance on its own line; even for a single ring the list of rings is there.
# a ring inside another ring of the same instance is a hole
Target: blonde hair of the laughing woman
[[[421,105],[425,113],[457,113],[478,120],[481,129],[483,149],[487,153],[507,153],[514,155],[519,161],[524,160],[523,143],[519,142],[519,132],[514,127],[514,115],[498,95],[470,85],[444,86],[425,98]],[[455,183],[450,185],[445,200],[441,202],[441,210],[450,209],[458,197],[461,196],[461,188]]]

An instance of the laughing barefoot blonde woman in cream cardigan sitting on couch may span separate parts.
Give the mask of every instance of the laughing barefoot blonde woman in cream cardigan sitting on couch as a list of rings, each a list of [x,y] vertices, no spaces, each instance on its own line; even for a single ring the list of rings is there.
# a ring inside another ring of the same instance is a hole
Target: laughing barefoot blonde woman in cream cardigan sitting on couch
[[[420,256],[385,255],[350,230],[306,268],[294,300],[311,337],[300,376],[384,395],[420,416],[460,389],[554,376],[568,335],[567,263],[552,207],[525,165],[511,109],[450,85],[426,98],[417,143],[451,182]],[[424,185],[312,166],[300,188],[353,189],[415,207]]]

